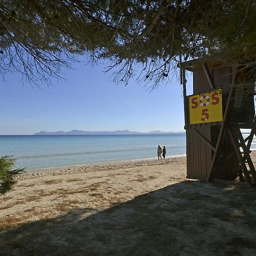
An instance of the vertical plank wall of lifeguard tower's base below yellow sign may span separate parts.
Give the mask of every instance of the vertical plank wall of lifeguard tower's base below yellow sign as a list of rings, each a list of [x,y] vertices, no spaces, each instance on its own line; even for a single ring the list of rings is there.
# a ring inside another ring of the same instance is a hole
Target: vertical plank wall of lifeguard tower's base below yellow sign
[[[186,130],[187,138],[187,178],[207,179],[210,163],[212,162],[212,150],[203,142],[195,131],[195,128],[210,142],[210,124],[189,125]]]

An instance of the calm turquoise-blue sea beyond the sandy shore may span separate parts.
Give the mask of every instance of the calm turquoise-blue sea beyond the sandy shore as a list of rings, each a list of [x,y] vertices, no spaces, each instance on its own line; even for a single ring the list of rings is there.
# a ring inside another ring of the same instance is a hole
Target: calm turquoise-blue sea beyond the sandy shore
[[[244,137],[249,134],[243,134]],[[157,159],[157,147],[166,146],[166,158],[185,156],[185,134],[160,135],[1,135],[0,156],[11,155],[15,168],[27,172],[56,168]],[[251,149],[256,149],[254,138]]]

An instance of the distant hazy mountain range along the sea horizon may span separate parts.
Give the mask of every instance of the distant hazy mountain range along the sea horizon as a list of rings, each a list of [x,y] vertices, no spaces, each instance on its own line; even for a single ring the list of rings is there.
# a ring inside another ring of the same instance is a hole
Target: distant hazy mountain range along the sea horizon
[[[148,133],[141,133],[139,131],[117,130],[117,131],[40,131],[34,135],[129,135],[129,134],[180,134],[184,131],[150,131]]]

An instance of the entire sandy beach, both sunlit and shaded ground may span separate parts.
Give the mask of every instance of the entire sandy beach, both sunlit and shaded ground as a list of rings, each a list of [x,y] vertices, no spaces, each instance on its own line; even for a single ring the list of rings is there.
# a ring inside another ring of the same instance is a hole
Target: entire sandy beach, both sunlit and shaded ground
[[[0,197],[0,254],[255,255],[255,188],[187,180],[185,165],[21,175]]]

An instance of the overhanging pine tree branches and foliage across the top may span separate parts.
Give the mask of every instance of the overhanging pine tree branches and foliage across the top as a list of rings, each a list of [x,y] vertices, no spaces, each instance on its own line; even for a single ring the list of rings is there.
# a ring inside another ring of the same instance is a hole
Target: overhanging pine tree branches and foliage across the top
[[[255,0],[3,0],[0,71],[59,76],[77,55],[108,60],[127,82],[134,64],[154,86],[182,59],[211,56],[255,67]]]

